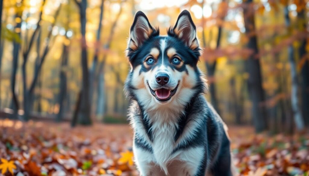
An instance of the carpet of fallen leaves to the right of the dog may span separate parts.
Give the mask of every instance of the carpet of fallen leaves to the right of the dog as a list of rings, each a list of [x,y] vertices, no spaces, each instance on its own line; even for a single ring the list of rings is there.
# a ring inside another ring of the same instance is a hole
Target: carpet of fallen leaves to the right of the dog
[[[241,131],[241,130],[240,130]],[[240,175],[308,176],[309,134],[286,136],[232,133],[234,164]]]

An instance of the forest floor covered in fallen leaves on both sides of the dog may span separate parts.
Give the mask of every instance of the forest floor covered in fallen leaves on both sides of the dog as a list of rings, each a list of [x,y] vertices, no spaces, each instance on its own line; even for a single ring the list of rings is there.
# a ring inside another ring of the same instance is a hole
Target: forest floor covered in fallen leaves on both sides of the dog
[[[234,163],[240,175],[308,176],[309,134],[255,135],[230,127]],[[71,129],[67,123],[0,120],[3,175],[138,175],[128,125]],[[0,173],[0,175],[1,175]]]

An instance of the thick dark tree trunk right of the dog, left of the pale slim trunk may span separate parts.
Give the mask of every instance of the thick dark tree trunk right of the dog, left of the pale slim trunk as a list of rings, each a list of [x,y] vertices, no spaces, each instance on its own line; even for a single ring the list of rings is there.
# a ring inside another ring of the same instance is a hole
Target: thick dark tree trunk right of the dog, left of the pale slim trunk
[[[246,34],[249,38],[247,47],[253,51],[246,60],[246,68],[249,73],[248,91],[252,100],[252,120],[256,132],[261,132],[267,128],[267,118],[265,117],[266,111],[265,106],[263,105],[265,97],[264,90],[262,88],[260,59],[256,58],[259,51],[255,34],[255,19],[252,0],[244,2],[243,14]],[[254,35],[252,35],[253,33]]]

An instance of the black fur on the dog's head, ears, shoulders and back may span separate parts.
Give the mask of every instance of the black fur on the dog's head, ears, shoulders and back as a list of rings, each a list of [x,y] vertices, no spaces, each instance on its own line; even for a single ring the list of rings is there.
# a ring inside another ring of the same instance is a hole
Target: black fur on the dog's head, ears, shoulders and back
[[[187,10],[184,10],[180,16],[178,17],[178,20],[182,15],[187,15],[188,19],[191,23],[191,25],[194,27],[194,30],[196,30],[196,27],[193,23],[193,20],[191,18],[190,13]],[[139,16],[142,16],[147,19],[149,27],[152,29],[152,33],[150,34],[149,38],[143,41],[140,45],[138,45],[137,48],[128,48],[128,54],[129,62],[132,66],[132,71],[129,72],[127,76],[127,80],[125,82],[125,92],[127,97],[129,97],[130,100],[136,101],[135,109],[133,109],[133,114],[136,114],[136,116],[133,116],[131,118],[139,118],[139,123],[142,123],[142,127],[146,131],[146,135],[140,136],[137,132],[134,135],[134,145],[135,147],[141,148],[143,150],[146,150],[150,153],[154,153],[154,149],[152,148],[151,143],[154,140],[153,132],[151,131],[152,124],[149,121],[149,117],[147,117],[147,109],[145,109],[142,106],[142,102],[139,102],[137,95],[135,95],[134,91],[136,88],[132,85],[132,79],[133,79],[133,70],[141,66],[140,73],[142,72],[148,72],[151,69],[154,69],[155,67],[159,66],[159,63],[162,63],[162,54],[164,58],[167,58],[167,53],[159,53],[159,57],[156,61],[156,63],[153,63],[149,67],[146,67],[144,65],[144,62],[149,55],[152,48],[160,48],[160,40],[165,39],[166,40],[166,47],[165,52],[170,48],[175,48],[177,54],[180,56],[180,58],[183,61],[182,67],[176,67],[173,64],[170,64],[168,59],[163,60],[165,66],[168,66],[172,68],[173,70],[177,70],[179,72],[187,72],[188,70],[185,67],[186,65],[189,65],[192,67],[195,71],[195,74],[197,76],[197,83],[194,88],[192,88],[195,93],[189,100],[189,102],[186,103],[186,106],[184,107],[184,114],[179,115],[178,124],[176,126],[176,133],[173,134],[174,142],[176,143],[177,140],[180,139],[180,137],[184,133],[184,129],[187,127],[186,125],[190,121],[195,121],[196,117],[202,117],[203,121],[199,126],[196,127],[196,133],[195,136],[186,139],[185,143],[180,143],[178,146],[175,147],[175,149],[172,151],[172,153],[167,154],[174,154],[179,151],[185,151],[187,149],[190,149],[192,147],[202,146],[205,148],[205,153],[201,153],[203,156],[202,161],[200,162],[200,165],[198,167],[198,172],[195,174],[195,176],[204,176],[206,170],[208,170],[211,174],[214,176],[231,176],[231,155],[230,155],[230,141],[228,137],[226,136],[223,122],[221,118],[215,113],[212,107],[209,107],[207,101],[204,98],[205,90],[206,90],[206,84],[201,79],[201,72],[197,68],[197,62],[199,61],[200,57],[200,48],[190,48],[187,46],[182,39],[180,39],[179,36],[174,32],[175,27],[177,26],[177,23],[174,27],[170,27],[167,31],[167,36],[159,36],[159,28],[153,28],[151,27],[148,18],[144,13],[141,11],[137,12],[133,25],[131,27],[132,31],[137,22],[137,18]],[[132,40],[132,39],[131,39]],[[161,50],[159,49],[161,52]],[[132,111],[132,109],[131,109]],[[148,142],[146,138],[149,138]]]

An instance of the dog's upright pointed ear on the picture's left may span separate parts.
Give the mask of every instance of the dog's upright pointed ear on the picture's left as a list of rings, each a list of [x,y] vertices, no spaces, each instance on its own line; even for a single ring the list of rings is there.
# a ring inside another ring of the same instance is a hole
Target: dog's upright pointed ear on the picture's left
[[[146,15],[142,11],[138,11],[130,29],[128,49],[137,50],[152,35],[153,31],[154,28],[150,25]]]

